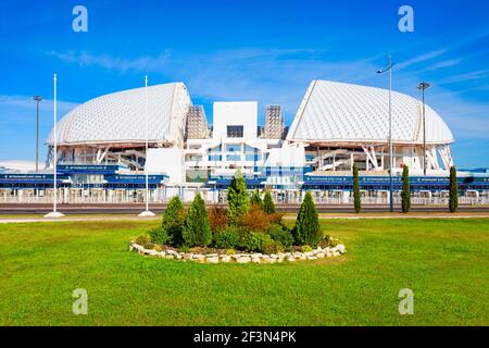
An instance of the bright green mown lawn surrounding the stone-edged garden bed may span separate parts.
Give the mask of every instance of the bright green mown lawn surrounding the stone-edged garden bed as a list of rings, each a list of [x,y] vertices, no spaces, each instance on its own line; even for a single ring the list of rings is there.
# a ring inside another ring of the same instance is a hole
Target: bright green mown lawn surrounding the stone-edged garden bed
[[[489,220],[322,223],[349,253],[262,265],[128,252],[155,221],[0,225],[0,325],[489,325]]]

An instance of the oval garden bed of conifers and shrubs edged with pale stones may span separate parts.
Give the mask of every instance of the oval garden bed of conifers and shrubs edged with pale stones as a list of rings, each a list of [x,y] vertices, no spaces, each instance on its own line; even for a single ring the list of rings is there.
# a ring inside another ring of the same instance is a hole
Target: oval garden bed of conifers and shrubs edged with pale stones
[[[161,226],[138,236],[130,249],[154,257],[209,263],[273,263],[344,253],[340,240],[323,234],[310,192],[305,194],[296,224],[290,227],[276,211],[269,191],[255,189],[250,199],[239,172],[228,188],[226,207],[208,209],[197,194],[186,210],[179,197],[173,197]]]

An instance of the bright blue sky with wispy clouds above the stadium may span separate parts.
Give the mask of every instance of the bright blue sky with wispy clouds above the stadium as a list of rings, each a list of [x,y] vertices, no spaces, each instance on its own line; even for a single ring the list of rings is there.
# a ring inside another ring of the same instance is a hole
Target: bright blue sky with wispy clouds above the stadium
[[[88,10],[88,33],[72,10]],[[414,33],[398,10],[414,9]],[[387,87],[375,74],[390,52],[393,88],[419,97],[446,120],[459,167],[489,167],[489,1],[2,1],[0,160],[34,160],[59,115],[91,98],[143,85],[184,82],[212,119],[215,100],[284,105],[290,122],[312,79]],[[42,149],[42,158],[46,149]]]

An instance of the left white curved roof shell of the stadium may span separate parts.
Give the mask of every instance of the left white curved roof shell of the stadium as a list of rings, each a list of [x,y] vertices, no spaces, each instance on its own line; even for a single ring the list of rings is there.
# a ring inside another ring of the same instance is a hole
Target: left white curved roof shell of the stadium
[[[181,145],[190,96],[183,83],[148,87],[149,141]],[[58,144],[146,142],[145,88],[129,89],[87,101],[58,122]],[[51,132],[48,144],[53,144]]]

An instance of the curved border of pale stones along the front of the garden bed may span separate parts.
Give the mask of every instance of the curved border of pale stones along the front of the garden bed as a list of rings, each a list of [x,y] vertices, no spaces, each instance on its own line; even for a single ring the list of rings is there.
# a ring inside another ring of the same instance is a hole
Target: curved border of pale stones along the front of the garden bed
[[[235,254],[225,254],[225,253],[192,253],[192,252],[177,252],[175,250],[165,250],[158,251],[153,249],[145,249],[145,247],[136,244],[135,241],[130,241],[129,251],[136,251],[140,254],[146,254],[155,258],[162,259],[171,259],[171,260],[179,260],[179,261],[195,261],[200,263],[276,263],[276,262],[294,262],[309,260],[314,261],[324,258],[334,258],[339,257],[347,252],[347,249],[342,244],[334,247],[334,248],[322,248],[317,247],[309,252],[278,252],[272,254],[263,254],[263,253],[235,253]]]

